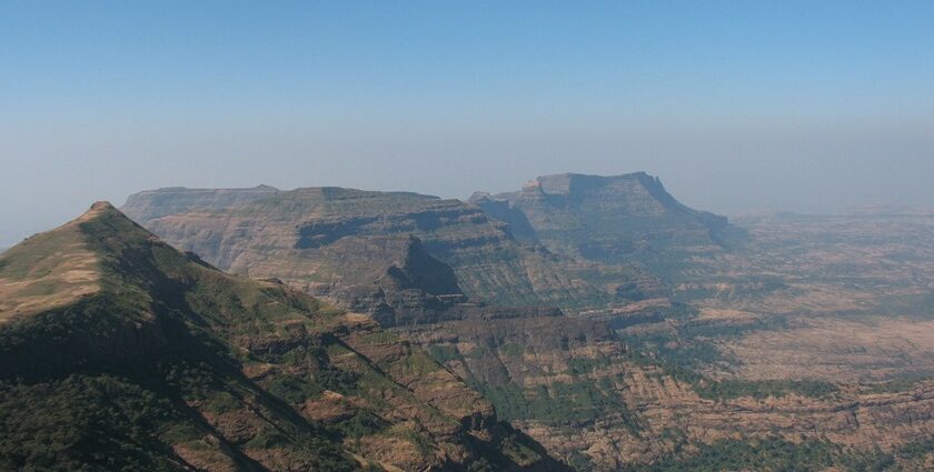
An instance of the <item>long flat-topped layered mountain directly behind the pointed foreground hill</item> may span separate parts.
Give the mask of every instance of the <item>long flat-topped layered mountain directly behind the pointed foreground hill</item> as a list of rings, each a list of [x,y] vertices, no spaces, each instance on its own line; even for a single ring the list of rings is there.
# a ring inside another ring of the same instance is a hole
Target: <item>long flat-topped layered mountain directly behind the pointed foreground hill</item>
[[[520,244],[506,224],[459,200],[341,188],[163,189],[130,197],[125,211],[221,269],[279,278],[312,294],[379,285],[411,259],[415,238],[416,252],[427,254],[416,259],[434,258],[456,278],[428,287],[439,279],[424,277],[407,287],[428,294],[463,292],[510,305],[599,304],[616,297],[613,288],[579,277],[589,267]],[[616,272],[627,278],[625,269]]]

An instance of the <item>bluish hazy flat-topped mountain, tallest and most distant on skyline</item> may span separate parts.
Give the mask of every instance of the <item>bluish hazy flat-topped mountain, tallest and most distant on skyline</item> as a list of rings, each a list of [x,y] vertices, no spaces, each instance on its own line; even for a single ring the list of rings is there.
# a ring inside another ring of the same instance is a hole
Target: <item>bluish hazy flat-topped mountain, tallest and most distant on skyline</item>
[[[521,190],[470,202],[509,224],[517,238],[587,260],[639,261],[657,272],[684,253],[719,248],[727,220],[690,209],[645,172],[539,177]]]

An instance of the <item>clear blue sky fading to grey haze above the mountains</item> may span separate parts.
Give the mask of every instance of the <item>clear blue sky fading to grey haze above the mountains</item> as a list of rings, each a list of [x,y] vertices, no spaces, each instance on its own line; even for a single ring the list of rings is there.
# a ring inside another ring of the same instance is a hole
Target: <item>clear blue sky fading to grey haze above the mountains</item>
[[[934,208],[934,2],[0,0],[0,247],[161,187]]]

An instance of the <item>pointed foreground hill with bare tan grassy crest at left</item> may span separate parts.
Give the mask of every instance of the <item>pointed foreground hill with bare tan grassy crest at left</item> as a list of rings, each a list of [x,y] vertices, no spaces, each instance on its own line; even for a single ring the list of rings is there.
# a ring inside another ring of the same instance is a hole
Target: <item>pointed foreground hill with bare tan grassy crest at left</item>
[[[2,470],[563,468],[372,320],[103,202],[0,255],[0,431]]]

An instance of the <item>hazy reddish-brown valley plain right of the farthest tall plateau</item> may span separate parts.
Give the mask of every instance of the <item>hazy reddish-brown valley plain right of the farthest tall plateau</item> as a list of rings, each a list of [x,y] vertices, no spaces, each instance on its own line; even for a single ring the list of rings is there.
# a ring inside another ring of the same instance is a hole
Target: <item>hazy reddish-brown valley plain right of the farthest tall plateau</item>
[[[930,213],[738,224],[749,233],[745,245],[695,259],[673,291],[698,308],[697,323],[734,327],[717,344],[737,375],[875,384],[934,372]],[[763,323],[781,329],[755,329]]]

